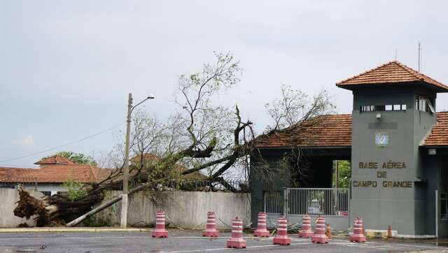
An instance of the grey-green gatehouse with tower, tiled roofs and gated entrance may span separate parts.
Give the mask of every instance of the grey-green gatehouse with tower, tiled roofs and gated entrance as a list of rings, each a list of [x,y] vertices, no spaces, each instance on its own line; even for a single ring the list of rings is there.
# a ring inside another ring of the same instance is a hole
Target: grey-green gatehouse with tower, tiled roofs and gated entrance
[[[448,87],[396,61],[336,85],[353,94],[350,115],[318,116],[258,142],[253,226],[260,211],[290,223],[325,215],[342,231],[359,216],[366,229],[447,238],[448,112],[436,113],[436,99]],[[258,175],[261,160],[273,178]],[[346,187],[340,161],[350,164]]]

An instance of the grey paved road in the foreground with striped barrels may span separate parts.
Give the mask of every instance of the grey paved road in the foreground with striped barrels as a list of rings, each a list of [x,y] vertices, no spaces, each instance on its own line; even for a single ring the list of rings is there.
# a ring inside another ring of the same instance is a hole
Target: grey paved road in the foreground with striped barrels
[[[200,237],[199,231],[169,231],[169,238],[151,238],[148,232],[109,233],[0,233],[0,252],[448,252],[435,243],[369,240],[349,243],[344,239],[315,245],[292,235],[290,246],[272,245],[272,238],[254,240],[246,235],[245,250],[227,249],[230,233],[218,239]],[[227,238],[226,238],[227,237]]]

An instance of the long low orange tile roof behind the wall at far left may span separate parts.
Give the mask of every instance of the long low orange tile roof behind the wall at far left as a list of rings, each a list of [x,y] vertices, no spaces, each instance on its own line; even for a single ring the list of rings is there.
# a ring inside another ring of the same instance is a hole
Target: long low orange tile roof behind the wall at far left
[[[99,182],[105,174],[102,168],[88,164],[49,165],[42,168],[5,168],[0,167],[0,182],[66,182],[71,178],[75,182]]]

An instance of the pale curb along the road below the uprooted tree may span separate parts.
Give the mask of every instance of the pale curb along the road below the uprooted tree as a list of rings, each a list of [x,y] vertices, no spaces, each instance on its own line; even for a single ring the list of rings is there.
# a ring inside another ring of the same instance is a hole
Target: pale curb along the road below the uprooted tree
[[[0,228],[0,233],[23,232],[148,232],[151,229],[121,229],[121,228]]]

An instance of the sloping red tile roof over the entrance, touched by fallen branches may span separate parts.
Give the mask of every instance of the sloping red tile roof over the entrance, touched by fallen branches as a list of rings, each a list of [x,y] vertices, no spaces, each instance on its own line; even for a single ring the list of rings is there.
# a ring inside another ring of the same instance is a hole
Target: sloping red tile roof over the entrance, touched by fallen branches
[[[351,147],[351,115],[325,115],[258,139],[257,147]]]

